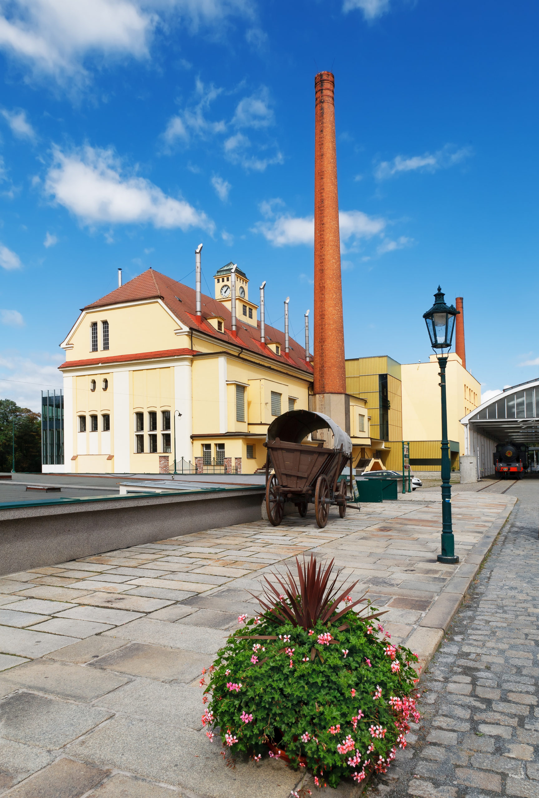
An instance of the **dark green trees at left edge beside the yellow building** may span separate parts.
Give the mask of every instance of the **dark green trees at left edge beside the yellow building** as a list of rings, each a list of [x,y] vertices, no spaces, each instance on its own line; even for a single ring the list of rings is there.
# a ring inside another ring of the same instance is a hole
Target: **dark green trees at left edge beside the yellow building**
[[[0,472],[11,471],[13,425],[15,425],[15,470],[41,472],[41,414],[19,407],[12,399],[0,399]]]

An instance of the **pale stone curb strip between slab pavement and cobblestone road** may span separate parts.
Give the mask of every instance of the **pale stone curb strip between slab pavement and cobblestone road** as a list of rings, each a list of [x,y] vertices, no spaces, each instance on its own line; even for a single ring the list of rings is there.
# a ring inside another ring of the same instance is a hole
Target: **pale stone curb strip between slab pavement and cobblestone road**
[[[403,641],[403,645],[406,648],[410,648],[418,654],[418,669],[420,671],[425,670],[430,660],[434,657],[444,634],[446,634],[447,627],[461,606],[462,599],[464,599],[470,589],[470,585],[478,573],[483,560],[492,548],[494,540],[513,512],[515,504],[517,504],[516,498],[513,500],[513,504],[508,504],[501,511],[497,519],[482,536],[482,539],[475,544],[470,554],[466,555],[455,575],[438,595],[438,599],[430,607],[425,617],[422,618],[418,627],[411,632],[406,641]]]

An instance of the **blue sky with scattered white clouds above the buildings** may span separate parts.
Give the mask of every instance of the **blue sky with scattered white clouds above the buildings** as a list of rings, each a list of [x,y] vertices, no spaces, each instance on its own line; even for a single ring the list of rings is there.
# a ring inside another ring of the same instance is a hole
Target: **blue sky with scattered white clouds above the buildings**
[[[440,282],[484,392],[536,376],[537,22],[486,0],[0,2],[2,397],[38,409],[117,267],[194,286],[200,241],[209,286],[238,263],[303,341],[322,69],[347,357],[426,360]]]

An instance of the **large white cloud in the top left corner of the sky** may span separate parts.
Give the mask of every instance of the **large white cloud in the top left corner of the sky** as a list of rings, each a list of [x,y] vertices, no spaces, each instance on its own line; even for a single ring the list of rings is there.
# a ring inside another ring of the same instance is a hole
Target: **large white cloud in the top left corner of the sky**
[[[149,57],[157,26],[221,33],[230,16],[253,18],[250,0],[13,0],[2,3],[0,49],[34,74],[88,81],[89,57]]]

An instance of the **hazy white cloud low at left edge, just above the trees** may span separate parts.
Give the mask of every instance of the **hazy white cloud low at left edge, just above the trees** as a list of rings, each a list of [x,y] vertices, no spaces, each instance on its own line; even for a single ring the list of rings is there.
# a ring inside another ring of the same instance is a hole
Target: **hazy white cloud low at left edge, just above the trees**
[[[62,387],[57,366],[65,360],[63,354],[38,352],[23,357],[17,351],[0,352],[0,397],[13,399],[21,407],[42,412],[41,392]]]

